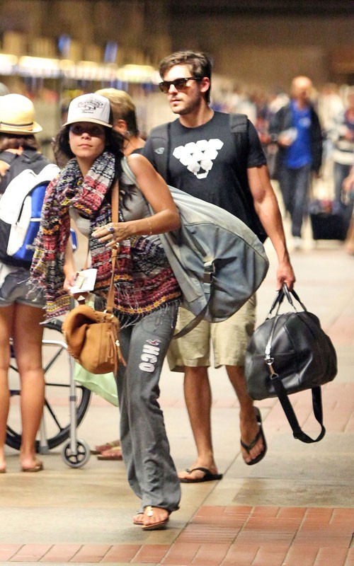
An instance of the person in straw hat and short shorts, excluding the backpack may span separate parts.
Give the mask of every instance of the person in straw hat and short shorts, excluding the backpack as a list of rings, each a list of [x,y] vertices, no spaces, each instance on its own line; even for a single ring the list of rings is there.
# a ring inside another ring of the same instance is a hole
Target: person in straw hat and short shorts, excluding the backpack
[[[20,94],[7,94],[0,98],[0,203],[5,198],[6,187],[16,183],[18,175],[30,171],[35,176],[50,165],[39,151],[35,134],[42,127],[34,117],[34,106],[29,98]],[[15,191],[9,200],[16,202]],[[44,318],[45,301],[40,289],[29,291],[26,285],[33,251],[27,258],[13,258],[6,253],[6,234],[8,232],[1,231],[0,237],[0,473],[6,472],[4,444],[10,405],[8,369],[11,338],[21,380],[21,470],[38,472],[43,468],[35,454],[35,437],[44,404],[43,326],[40,323]]]

